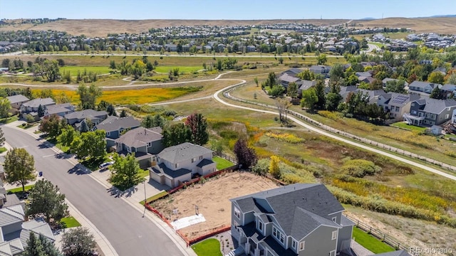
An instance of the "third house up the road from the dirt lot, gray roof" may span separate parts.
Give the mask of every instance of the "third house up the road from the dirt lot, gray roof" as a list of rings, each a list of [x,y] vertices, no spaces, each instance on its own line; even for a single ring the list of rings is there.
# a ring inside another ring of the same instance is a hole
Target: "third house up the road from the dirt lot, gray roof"
[[[106,146],[108,149],[111,146],[115,145],[115,139],[120,137],[124,131],[128,131],[130,129],[135,129],[140,127],[141,122],[139,122],[134,117],[115,117],[109,116],[103,122],[95,125],[93,130],[96,129],[103,129],[106,132]]]

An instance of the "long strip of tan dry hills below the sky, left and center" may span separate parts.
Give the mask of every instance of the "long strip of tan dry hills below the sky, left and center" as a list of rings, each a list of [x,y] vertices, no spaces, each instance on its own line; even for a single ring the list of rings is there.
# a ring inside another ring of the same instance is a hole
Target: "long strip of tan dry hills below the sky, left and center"
[[[108,33],[140,33],[148,31],[149,28],[163,28],[167,26],[195,26],[195,25],[261,25],[261,24],[276,24],[276,23],[312,23],[315,25],[331,25],[344,23],[348,20],[343,19],[312,19],[312,20],[110,20],[110,19],[78,19],[78,20],[61,20],[49,23],[38,24],[21,24],[14,26],[1,26],[0,31],[11,30],[39,30],[46,31],[48,29],[54,31],[66,31],[71,35],[86,36],[106,36]]]

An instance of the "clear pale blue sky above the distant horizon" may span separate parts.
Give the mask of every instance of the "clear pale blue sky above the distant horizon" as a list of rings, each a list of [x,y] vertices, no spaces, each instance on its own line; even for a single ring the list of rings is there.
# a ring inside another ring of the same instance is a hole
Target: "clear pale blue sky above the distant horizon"
[[[456,14],[456,0],[0,0],[0,18],[270,19]]]

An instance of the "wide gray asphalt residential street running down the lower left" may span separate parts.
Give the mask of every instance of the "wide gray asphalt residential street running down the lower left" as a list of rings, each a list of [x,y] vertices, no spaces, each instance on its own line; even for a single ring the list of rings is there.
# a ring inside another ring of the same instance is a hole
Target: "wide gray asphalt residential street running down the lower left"
[[[142,213],[88,174],[77,171],[66,159],[31,134],[2,127],[6,141],[13,147],[24,147],[35,158],[37,171],[57,185],[78,210],[109,240],[118,255],[182,255],[177,245]]]

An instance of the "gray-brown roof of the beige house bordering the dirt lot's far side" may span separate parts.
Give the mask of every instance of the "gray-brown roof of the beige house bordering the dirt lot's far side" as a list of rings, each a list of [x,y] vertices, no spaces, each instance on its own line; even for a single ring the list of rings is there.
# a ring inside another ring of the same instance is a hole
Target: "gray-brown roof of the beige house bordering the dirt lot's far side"
[[[199,146],[191,144],[190,142],[185,142],[176,146],[169,146],[166,149],[163,149],[160,153],[158,153],[158,157],[160,157],[160,159],[165,159],[166,161],[175,164],[181,161],[194,159],[204,154],[212,154],[212,150],[206,149],[204,146]]]

